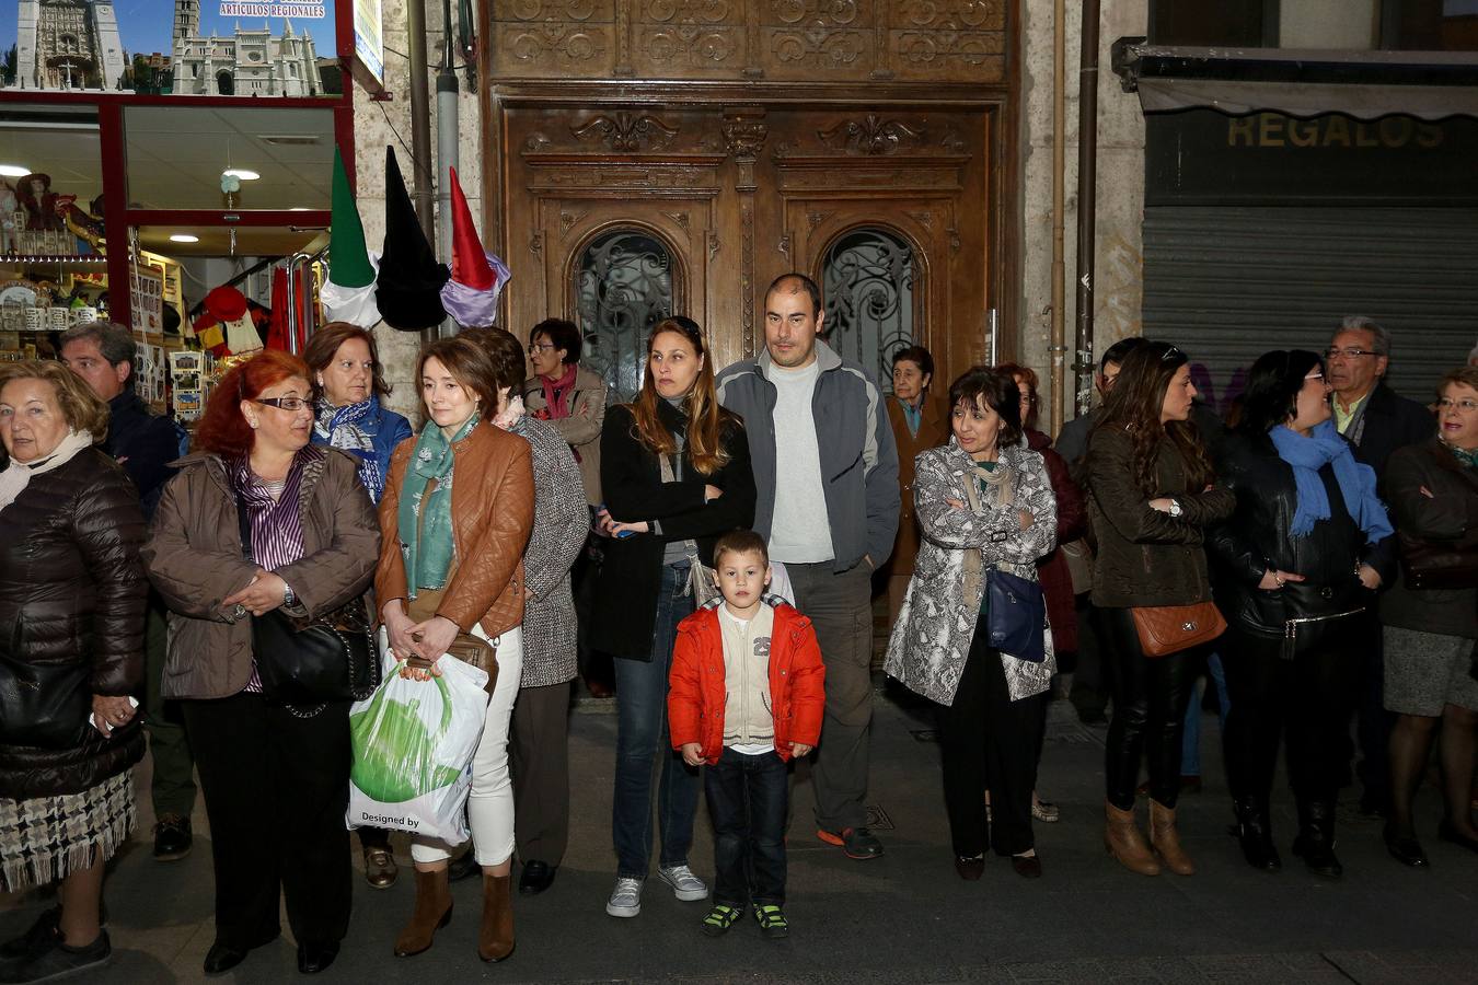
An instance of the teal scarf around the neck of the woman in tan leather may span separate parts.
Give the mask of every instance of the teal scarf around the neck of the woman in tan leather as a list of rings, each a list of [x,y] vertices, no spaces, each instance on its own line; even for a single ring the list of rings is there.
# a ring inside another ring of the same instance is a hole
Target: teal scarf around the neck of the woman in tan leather
[[[409,598],[415,598],[417,588],[423,585],[423,573],[433,582],[426,588],[436,588],[451,570],[455,551],[451,530],[452,446],[471,434],[479,416],[474,411],[449,442],[435,422],[427,422],[415,439],[396,517]],[[436,489],[427,495],[432,480],[436,481]]]

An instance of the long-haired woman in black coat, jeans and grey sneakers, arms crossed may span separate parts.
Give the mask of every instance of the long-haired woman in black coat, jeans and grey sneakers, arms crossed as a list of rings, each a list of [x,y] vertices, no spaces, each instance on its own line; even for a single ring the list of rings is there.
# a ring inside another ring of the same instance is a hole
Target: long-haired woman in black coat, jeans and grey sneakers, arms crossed
[[[743,421],[718,406],[704,334],[687,318],[658,322],[647,340],[646,378],[630,405],[606,413],[600,481],[612,536],[600,572],[591,645],[616,654],[616,796],[612,834],[613,917],[641,911],[652,848],[652,766],[662,855],[658,874],[678,899],[708,896],[687,867],[698,811],[698,775],[667,734],[667,678],[677,623],[704,591],[720,533],[754,523],[754,474]]]

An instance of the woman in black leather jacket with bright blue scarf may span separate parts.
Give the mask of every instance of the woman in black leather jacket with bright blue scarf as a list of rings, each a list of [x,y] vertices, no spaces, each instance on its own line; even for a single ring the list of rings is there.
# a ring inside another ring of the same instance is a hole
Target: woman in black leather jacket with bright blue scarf
[[[1255,868],[1281,867],[1268,823],[1278,738],[1298,799],[1293,854],[1338,877],[1335,796],[1341,731],[1360,647],[1354,616],[1391,574],[1391,524],[1376,477],[1330,421],[1324,365],[1278,350],[1247,375],[1242,419],[1221,449],[1222,481],[1237,496],[1212,533],[1227,690],[1227,780],[1242,852]]]

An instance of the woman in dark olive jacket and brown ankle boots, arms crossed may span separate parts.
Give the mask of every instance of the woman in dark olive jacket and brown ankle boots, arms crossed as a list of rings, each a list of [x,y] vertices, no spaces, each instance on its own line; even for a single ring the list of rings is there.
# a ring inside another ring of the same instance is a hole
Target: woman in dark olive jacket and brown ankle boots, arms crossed
[[[1157,876],[1162,862],[1182,876],[1196,871],[1179,843],[1175,803],[1197,654],[1145,656],[1132,613],[1137,605],[1210,601],[1202,546],[1206,529],[1231,514],[1234,499],[1212,481],[1206,446],[1188,421],[1194,399],[1185,353],[1145,343],[1125,356],[1088,439],[1088,511],[1098,538],[1092,600],[1113,682],[1104,845],[1142,876]],[[1144,759],[1148,842],[1134,817]]]

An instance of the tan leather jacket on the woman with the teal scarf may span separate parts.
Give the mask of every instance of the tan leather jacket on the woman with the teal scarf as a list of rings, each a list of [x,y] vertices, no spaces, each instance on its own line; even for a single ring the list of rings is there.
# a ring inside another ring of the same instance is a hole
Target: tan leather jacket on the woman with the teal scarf
[[[427,424],[426,427],[436,427]],[[390,456],[390,477],[380,499],[380,567],[374,591],[380,611],[405,600],[405,558],[401,554],[401,487],[415,452],[415,439],[401,442]],[[452,540],[457,561],[437,616],[463,632],[482,623],[497,636],[523,622],[523,548],[534,529],[534,455],[529,443],[483,421],[452,445]]]

